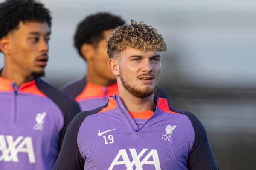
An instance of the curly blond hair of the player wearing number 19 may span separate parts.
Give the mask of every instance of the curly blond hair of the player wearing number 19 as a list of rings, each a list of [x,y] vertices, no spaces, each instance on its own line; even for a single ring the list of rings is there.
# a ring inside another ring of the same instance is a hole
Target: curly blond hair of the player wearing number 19
[[[108,55],[119,53],[125,48],[136,48],[143,51],[166,51],[166,43],[157,30],[144,22],[137,23],[131,20],[131,24],[118,26],[108,37]]]

